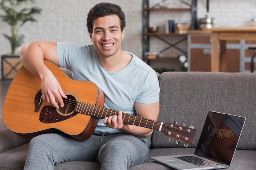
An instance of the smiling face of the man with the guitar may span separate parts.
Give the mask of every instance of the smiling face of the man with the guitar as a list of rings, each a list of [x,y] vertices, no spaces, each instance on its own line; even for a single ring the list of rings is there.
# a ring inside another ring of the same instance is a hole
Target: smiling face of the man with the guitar
[[[121,50],[124,30],[121,31],[120,19],[117,15],[99,17],[92,22],[92,34],[89,33],[99,55],[110,57]]]

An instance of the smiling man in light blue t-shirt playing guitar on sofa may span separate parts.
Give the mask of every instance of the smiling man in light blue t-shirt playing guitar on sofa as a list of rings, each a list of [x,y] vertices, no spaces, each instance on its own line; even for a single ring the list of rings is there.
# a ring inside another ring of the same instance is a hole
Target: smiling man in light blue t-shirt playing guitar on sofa
[[[130,52],[121,50],[125,15],[115,4],[99,3],[88,13],[87,27],[93,45],[70,42],[24,44],[20,60],[42,81],[43,100],[58,109],[66,98],[43,60],[71,70],[74,80],[94,82],[105,94],[105,108],[118,116],[99,120],[93,135],[79,142],[62,134],[31,139],[25,170],[54,169],[65,161],[94,161],[102,170],[125,170],[148,159],[153,130],[124,124],[122,112],[157,120],[159,85],[155,71]]]

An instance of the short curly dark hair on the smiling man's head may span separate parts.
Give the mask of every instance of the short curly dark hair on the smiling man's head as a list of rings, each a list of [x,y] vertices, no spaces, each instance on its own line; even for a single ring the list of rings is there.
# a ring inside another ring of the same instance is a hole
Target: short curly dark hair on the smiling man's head
[[[116,4],[101,2],[96,4],[92,9],[90,9],[87,16],[87,29],[92,33],[92,22],[99,17],[105,17],[107,15],[117,15],[120,19],[121,31],[124,30],[126,26],[125,15],[121,7]]]

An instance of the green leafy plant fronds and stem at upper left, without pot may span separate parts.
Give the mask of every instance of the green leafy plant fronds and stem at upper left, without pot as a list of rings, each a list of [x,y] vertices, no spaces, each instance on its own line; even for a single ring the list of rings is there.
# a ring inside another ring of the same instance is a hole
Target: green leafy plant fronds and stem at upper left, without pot
[[[40,14],[41,9],[37,7],[28,7],[28,3],[34,3],[34,0],[1,0],[0,8],[4,15],[0,15],[4,22],[11,26],[11,35],[4,34],[11,44],[11,54],[14,55],[16,48],[23,43],[24,35],[18,35],[19,28],[26,22],[36,22],[34,14]]]

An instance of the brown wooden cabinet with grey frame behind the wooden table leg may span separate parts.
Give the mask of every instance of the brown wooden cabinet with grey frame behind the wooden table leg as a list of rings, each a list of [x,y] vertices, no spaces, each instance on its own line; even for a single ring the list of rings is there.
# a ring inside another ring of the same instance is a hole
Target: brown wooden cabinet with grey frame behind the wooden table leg
[[[255,50],[255,41],[227,41],[227,72],[250,72],[250,59]],[[211,72],[211,34],[188,35],[188,71]]]

